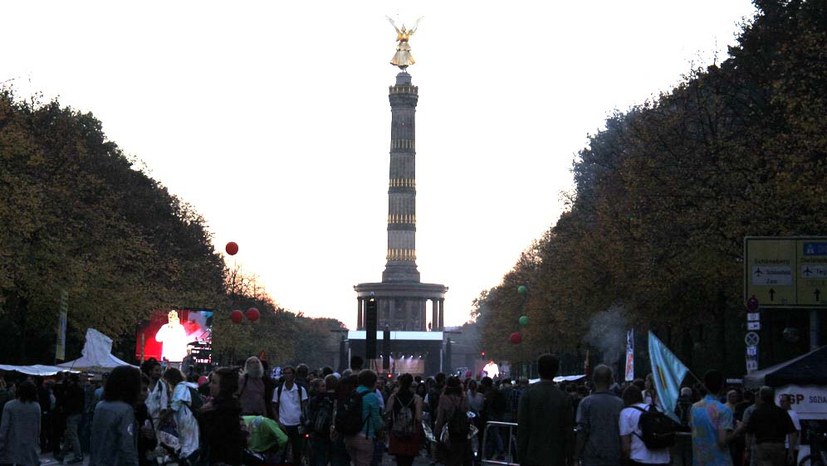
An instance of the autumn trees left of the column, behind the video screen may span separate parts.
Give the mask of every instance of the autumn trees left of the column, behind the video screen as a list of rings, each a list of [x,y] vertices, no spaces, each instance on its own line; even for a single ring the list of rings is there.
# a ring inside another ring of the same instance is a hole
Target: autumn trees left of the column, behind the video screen
[[[89,327],[130,359],[139,322],[188,306],[216,310],[216,355],[227,363],[263,351],[275,363],[332,364],[341,322],[287,312],[227,269],[195,208],[135,165],[93,115],[0,90],[2,362],[54,361],[65,292],[69,359]],[[249,307],[259,322],[230,322]]]

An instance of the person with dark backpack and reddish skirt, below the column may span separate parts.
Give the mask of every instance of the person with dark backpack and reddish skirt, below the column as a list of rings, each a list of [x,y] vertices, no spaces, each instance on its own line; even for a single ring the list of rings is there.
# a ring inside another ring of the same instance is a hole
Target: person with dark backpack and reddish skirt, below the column
[[[422,443],[422,398],[411,388],[411,374],[402,374],[397,382],[385,409],[385,418],[390,420],[388,453],[396,456],[398,466],[411,466]]]

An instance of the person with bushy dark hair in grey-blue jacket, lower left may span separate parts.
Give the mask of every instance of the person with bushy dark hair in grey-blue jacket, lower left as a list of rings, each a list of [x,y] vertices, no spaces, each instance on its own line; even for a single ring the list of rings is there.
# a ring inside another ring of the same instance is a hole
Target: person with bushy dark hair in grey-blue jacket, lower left
[[[141,371],[137,368],[118,366],[109,374],[92,417],[90,466],[138,465],[135,405],[140,390]]]

